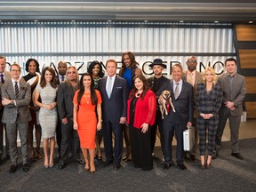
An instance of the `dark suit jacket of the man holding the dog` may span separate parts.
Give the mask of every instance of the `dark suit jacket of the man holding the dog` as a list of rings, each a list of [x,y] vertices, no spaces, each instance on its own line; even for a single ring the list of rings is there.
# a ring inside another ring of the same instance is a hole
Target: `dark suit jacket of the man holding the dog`
[[[174,99],[173,80],[163,84],[156,95],[160,95],[164,90],[172,93],[172,104],[176,110],[174,113],[170,109],[167,116],[164,115],[164,120],[175,124],[187,124],[193,122],[193,87],[188,82],[183,81],[179,97]]]

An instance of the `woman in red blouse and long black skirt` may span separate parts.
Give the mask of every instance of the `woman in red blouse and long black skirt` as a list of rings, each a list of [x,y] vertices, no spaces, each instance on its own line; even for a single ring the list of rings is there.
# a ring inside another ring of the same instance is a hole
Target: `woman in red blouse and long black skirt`
[[[144,171],[153,169],[151,126],[156,117],[156,96],[145,76],[134,77],[135,88],[127,101],[127,123],[131,137],[132,162]]]

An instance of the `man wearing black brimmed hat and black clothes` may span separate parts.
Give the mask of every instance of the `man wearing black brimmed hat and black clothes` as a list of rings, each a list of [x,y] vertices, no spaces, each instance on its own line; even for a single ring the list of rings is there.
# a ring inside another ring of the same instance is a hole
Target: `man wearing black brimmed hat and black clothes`
[[[166,65],[163,63],[163,60],[161,59],[155,59],[152,64],[149,65],[150,68],[153,68],[154,76],[148,78],[148,84],[151,87],[152,92],[158,92],[159,88],[164,84],[164,82],[169,82],[170,79],[163,76],[162,72],[164,68],[166,68]],[[160,132],[160,142],[161,142],[161,148],[162,152],[164,154],[163,150],[163,140],[162,140],[162,132],[163,132],[163,126],[162,126],[162,116],[159,109],[159,106],[156,108],[156,120],[155,124],[151,128],[151,152],[152,155],[154,154],[154,148],[156,144],[156,129],[158,126],[159,132]]]

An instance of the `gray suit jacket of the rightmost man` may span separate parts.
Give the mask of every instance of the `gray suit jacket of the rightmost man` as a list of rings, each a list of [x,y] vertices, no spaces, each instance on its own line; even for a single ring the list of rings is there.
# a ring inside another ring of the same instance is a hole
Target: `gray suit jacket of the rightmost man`
[[[229,88],[227,73],[222,74],[218,79],[218,82],[221,84],[223,90],[222,105],[220,107],[220,115],[222,116],[227,116],[229,112],[231,113],[231,116],[243,115],[242,101],[244,100],[246,94],[245,79],[244,76],[237,73],[233,78],[234,81],[231,90]],[[225,102],[227,101],[234,102],[236,109],[232,111],[226,108]]]

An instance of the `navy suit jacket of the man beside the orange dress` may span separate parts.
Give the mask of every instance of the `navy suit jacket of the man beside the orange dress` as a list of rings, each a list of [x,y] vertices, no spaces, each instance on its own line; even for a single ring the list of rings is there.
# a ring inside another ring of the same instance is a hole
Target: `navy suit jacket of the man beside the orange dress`
[[[126,117],[128,88],[127,82],[123,77],[116,76],[113,89],[108,99],[106,91],[107,76],[99,80],[98,89],[102,98],[102,117],[103,121],[119,123],[120,117]]]

